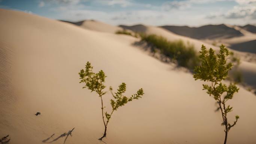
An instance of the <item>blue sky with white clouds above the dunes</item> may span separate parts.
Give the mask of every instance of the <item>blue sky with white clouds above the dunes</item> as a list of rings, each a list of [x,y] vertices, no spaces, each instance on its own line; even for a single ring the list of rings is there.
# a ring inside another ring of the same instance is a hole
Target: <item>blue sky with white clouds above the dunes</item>
[[[256,0],[0,0],[0,8],[112,25],[256,24]]]

